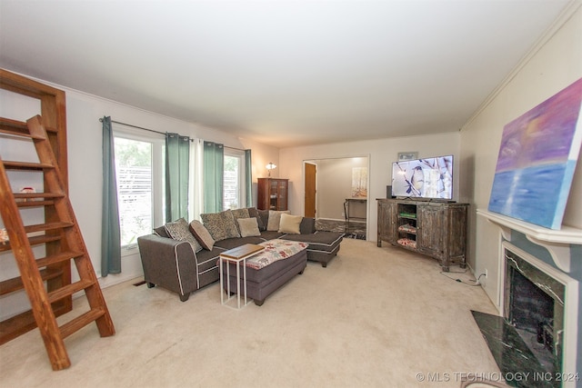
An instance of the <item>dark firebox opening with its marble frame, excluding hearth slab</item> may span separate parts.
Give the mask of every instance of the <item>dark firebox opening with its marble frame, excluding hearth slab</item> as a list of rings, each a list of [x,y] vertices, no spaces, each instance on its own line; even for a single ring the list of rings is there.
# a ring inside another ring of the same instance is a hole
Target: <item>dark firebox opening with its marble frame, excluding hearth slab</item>
[[[562,369],[564,285],[506,250],[506,322],[516,328],[539,372]]]

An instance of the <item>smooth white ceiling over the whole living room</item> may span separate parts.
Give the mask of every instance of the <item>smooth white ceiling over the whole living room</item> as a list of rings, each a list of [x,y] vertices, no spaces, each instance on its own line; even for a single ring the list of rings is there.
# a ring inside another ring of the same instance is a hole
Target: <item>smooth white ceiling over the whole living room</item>
[[[0,0],[0,67],[278,147],[444,133],[568,3]]]

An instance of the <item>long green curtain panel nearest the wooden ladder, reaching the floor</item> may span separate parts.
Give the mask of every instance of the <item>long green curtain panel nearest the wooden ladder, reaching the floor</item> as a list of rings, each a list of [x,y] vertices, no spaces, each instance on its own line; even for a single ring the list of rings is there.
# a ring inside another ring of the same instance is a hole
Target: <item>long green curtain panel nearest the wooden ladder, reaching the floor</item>
[[[111,117],[103,118],[103,214],[101,275],[121,273],[121,228],[117,204],[115,148]]]

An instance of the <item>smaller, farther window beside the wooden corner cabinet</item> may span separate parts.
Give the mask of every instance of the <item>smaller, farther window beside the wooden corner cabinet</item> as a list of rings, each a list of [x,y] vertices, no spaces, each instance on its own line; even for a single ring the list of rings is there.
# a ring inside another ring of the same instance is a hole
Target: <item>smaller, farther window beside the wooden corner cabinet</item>
[[[242,154],[225,151],[225,172],[223,181],[223,209],[245,207],[245,158]]]

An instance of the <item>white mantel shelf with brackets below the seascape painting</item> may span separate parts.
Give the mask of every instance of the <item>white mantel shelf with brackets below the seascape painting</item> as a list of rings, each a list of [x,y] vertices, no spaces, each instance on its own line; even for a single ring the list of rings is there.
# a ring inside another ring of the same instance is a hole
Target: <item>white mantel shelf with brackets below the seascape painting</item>
[[[496,224],[507,241],[511,241],[512,230],[525,234],[527,240],[547,249],[560,270],[570,272],[570,244],[582,244],[582,229],[566,225],[563,225],[560,230],[548,229],[481,209],[477,209],[477,214],[485,217],[490,223]]]

